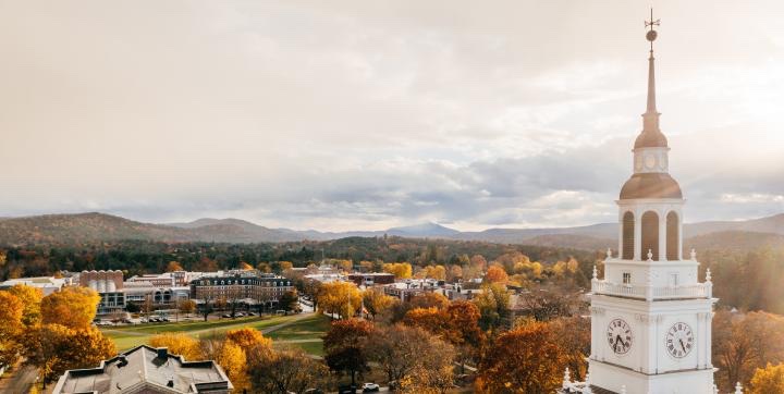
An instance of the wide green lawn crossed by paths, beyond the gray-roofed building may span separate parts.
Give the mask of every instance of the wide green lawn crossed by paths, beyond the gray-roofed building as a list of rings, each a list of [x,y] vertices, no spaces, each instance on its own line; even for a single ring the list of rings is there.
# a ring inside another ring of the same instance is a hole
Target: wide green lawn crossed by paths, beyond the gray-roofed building
[[[183,332],[195,338],[211,337],[222,334],[232,329],[249,327],[256,330],[265,331],[274,329],[275,325],[294,321],[290,325],[281,327],[265,336],[271,337],[280,344],[287,341],[305,341],[290,343],[292,346],[303,348],[305,352],[321,356],[322,345],[320,337],[329,329],[329,318],[322,315],[313,315],[302,317],[293,316],[275,316],[264,318],[241,318],[241,319],[221,319],[210,321],[186,321],[180,323],[159,323],[159,324],[139,324],[128,327],[102,328],[101,331],[109,338],[114,341],[118,350],[126,350],[134,346],[146,344],[150,337],[156,334],[169,332]]]

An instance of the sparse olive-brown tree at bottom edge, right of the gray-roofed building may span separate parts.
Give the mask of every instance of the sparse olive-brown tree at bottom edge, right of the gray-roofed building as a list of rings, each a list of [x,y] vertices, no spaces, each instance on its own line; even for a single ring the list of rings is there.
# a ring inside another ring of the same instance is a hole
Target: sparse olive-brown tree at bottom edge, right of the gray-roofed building
[[[258,393],[302,394],[308,389],[327,389],[329,368],[299,348],[247,352],[250,383]]]

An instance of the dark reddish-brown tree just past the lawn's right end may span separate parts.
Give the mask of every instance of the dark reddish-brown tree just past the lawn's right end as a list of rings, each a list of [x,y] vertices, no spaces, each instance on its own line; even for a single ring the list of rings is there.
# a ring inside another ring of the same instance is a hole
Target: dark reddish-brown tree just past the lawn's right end
[[[356,384],[356,374],[369,371],[365,350],[373,324],[367,320],[348,319],[332,323],[323,338],[324,361],[333,371],[346,372]]]

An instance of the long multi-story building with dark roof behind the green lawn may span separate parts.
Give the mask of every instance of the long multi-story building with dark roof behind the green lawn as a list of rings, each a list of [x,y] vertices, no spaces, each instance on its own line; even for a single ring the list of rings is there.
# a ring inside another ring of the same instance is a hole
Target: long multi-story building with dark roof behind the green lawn
[[[197,304],[222,299],[246,306],[273,307],[285,293],[294,290],[291,280],[250,271],[219,271],[191,281],[191,298]]]

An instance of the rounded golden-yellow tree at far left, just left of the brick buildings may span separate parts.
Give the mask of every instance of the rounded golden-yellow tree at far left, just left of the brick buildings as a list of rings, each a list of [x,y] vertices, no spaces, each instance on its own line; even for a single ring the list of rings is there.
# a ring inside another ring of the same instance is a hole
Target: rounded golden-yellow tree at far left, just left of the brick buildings
[[[45,324],[59,323],[71,329],[86,329],[95,319],[100,296],[89,287],[63,287],[41,299]]]

